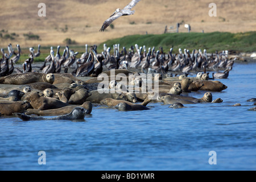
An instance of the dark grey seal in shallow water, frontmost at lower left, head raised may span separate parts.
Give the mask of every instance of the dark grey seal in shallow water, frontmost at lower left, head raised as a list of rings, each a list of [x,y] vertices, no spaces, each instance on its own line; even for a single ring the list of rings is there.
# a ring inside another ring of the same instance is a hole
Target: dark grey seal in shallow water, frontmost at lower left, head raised
[[[30,120],[73,120],[73,119],[84,119],[85,114],[87,114],[87,110],[84,107],[75,107],[71,113],[65,115],[59,115],[54,118],[43,118],[43,117],[30,117],[26,114],[22,113],[14,113],[16,117],[22,119],[23,121]]]

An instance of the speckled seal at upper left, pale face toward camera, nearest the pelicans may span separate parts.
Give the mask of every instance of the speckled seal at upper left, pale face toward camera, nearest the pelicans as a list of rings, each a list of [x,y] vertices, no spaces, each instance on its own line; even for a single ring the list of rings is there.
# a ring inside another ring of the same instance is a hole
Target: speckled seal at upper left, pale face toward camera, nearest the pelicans
[[[29,72],[1,77],[0,84],[26,85],[34,82],[48,82],[52,84],[54,80],[55,76],[52,73]]]

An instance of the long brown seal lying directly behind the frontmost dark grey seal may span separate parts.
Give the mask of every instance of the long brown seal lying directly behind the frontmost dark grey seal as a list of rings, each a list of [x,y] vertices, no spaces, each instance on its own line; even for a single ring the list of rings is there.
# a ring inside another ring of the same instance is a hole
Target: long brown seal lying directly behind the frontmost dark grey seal
[[[27,109],[25,114],[36,114],[36,115],[63,115],[70,113],[77,105],[68,105],[64,107],[60,107],[58,109],[48,109],[48,110],[38,110],[38,109]],[[84,107],[88,111],[88,114],[92,113],[93,105],[91,102],[86,101],[84,104],[80,105],[80,107]]]

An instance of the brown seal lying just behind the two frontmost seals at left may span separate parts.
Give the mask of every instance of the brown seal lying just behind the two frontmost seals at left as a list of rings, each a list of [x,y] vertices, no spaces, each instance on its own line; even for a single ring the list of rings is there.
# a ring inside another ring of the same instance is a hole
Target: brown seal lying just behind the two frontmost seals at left
[[[42,96],[43,94],[40,92],[33,92],[28,96],[26,96],[24,99],[30,102],[30,105],[34,109],[39,109],[39,110],[57,109],[57,108],[68,105],[67,103],[61,102],[56,98],[42,97]]]

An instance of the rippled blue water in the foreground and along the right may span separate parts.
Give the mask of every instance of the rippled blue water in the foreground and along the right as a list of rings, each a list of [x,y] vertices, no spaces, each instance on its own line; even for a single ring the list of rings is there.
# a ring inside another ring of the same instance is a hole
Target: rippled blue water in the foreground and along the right
[[[1,170],[255,170],[256,64],[235,63],[219,104],[93,107],[83,122],[0,118]],[[200,98],[205,92],[192,92]],[[232,107],[240,103],[242,106]],[[39,151],[46,164],[39,164]],[[217,164],[210,165],[210,151]]]

